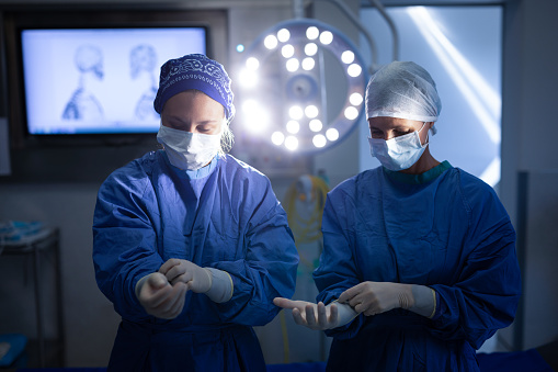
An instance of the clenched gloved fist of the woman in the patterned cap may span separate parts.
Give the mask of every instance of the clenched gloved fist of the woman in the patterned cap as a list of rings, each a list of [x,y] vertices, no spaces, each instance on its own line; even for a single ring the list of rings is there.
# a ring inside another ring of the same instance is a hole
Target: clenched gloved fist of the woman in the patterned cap
[[[147,314],[173,319],[182,313],[186,290],[184,283],[171,285],[163,274],[153,272],[137,282],[136,296]]]

